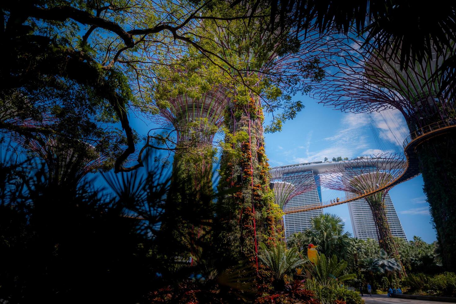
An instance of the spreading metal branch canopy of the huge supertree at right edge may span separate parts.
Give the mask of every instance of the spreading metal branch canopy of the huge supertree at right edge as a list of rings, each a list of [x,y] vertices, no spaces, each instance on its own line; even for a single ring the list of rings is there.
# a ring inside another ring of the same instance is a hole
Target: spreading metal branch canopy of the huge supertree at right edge
[[[438,95],[440,82],[431,77],[446,56],[428,57],[401,70],[400,52],[376,50],[353,37],[341,37],[334,45],[332,53],[337,51],[337,58],[326,70],[324,81],[315,86],[312,97],[352,113],[396,108],[411,131],[451,117],[455,100]]]

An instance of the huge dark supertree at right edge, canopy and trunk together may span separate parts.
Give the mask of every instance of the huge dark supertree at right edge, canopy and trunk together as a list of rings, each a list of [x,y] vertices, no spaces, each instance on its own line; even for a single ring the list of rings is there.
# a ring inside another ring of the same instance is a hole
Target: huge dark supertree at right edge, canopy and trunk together
[[[340,39],[336,47],[340,57],[313,96],[346,112],[395,108],[404,115],[410,130],[405,153],[409,159],[416,153],[444,264],[456,269],[456,141],[451,134],[456,106],[454,98],[446,98],[454,95],[450,92],[454,88],[441,88],[447,83],[445,73],[432,75],[454,50],[434,52],[443,55],[425,57],[401,70],[400,49],[393,54],[392,47],[378,50],[366,41]]]

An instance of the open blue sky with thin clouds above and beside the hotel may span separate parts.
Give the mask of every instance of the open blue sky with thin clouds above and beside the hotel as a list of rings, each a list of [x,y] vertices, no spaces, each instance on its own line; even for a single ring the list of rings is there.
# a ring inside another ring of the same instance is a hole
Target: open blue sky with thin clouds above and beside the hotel
[[[294,120],[287,121],[282,132],[265,134],[265,148],[271,166],[319,161],[325,157],[329,160],[337,156],[352,159],[361,155],[402,151],[407,127],[399,111],[374,113],[370,120],[364,114],[326,108],[307,96],[301,100],[306,108]],[[436,240],[435,230],[422,188],[423,179],[419,175],[395,186],[389,193],[407,238],[417,235],[426,242],[433,242]],[[323,201],[336,196],[344,195],[322,189]],[[323,211],[341,216],[346,230],[352,233],[347,205]]]

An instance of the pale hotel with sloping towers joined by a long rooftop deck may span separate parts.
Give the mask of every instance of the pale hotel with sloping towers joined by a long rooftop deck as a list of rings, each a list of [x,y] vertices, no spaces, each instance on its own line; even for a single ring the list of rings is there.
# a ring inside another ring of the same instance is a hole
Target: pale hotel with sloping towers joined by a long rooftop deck
[[[345,167],[350,167],[351,161],[344,162]],[[353,165],[356,162],[353,161]],[[287,209],[293,209],[294,207],[306,207],[307,205],[315,205],[321,203],[321,186],[319,183],[321,175],[327,171],[331,170],[340,164],[339,162],[311,162],[303,163],[296,165],[286,165],[280,167],[281,169],[290,169],[290,172],[302,173],[306,172],[309,179],[313,179],[315,187],[310,191],[306,191],[300,195],[296,195],[288,201],[285,205],[285,211]],[[359,165],[359,162],[358,162]],[[354,169],[354,167],[353,167]],[[273,169],[274,170],[274,169]],[[324,178],[324,177],[323,177]],[[293,174],[287,174],[282,177],[282,180],[285,182],[293,183]],[[352,193],[345,193],[346,196],[354,196]],[[330,198],[328,198],[329,200]],[[332,198],[331,198],[332,199]],[[389,228],[391,233],[395,237],[402,237],[406,239],[404,229],[399,221],[399,217],[394,209],[393,201],[389,194],[385,196],[385,207],[386,207],[386,217],[388,219]],[[358,237],[360,239],[373,238],[377,239],[377,232],[375,228],[375,223],[373,221],[372,211],[365,199],[359,199],[347,203],[348,210],[350,211],[350,219],[352,221],[353,228],[353,237]],[[312,217],[318,216],[323,213],[323,209],[311,210],[311,211],[302,211],[298,213],[285,214],[285,238],[290,237],[293,233],[303,232],[307,228],[310,228],[310,220]]]

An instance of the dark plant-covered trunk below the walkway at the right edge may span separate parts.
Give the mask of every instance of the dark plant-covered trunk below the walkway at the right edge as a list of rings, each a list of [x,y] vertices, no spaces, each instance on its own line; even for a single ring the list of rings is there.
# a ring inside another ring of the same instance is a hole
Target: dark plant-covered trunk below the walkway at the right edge
[[[443,265],[456,271],[456,141],[451,135],[436,137],[417,151]]]

